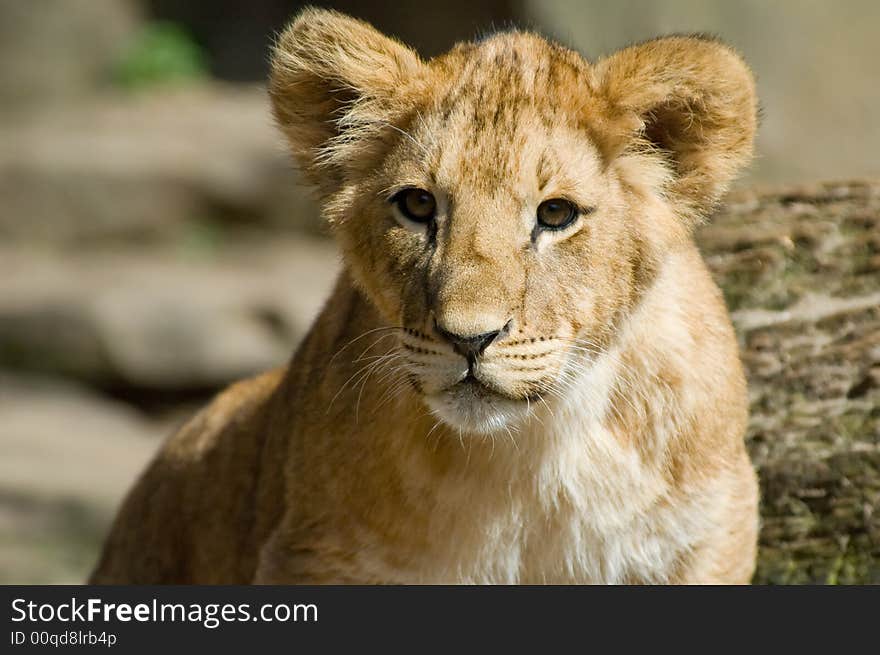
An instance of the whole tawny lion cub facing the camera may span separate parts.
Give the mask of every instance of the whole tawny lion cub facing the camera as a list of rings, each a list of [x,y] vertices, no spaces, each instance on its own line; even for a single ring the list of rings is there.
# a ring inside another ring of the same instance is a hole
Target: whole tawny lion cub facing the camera
[[[423,61],[309,9],[270,95],[344,273],[165,444],[93,581],[748,582],[746,386],[691,239],[751,156],[743,61],[524,32]]]

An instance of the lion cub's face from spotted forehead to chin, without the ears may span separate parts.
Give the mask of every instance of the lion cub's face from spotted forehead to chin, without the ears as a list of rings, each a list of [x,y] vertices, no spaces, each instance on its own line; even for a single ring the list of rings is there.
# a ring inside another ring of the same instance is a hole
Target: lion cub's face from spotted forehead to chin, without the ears
[[[578,129],[582,93],[575,78],[560,88],[555,54],[512,35],[447,59],[454,72],[352,207],[370,240],[353,259],[404,328],[400,362],[433,412],[468,431],[564,393],[635,293],[620,185]],[[340,229],[363,239],[354,221]]]

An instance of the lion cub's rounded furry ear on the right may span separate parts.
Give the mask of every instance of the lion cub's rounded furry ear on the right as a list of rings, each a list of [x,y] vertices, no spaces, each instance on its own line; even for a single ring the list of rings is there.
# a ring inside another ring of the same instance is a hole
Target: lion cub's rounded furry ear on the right
[[[708,212],[752,157],[757,99],[745,62],[717,41],[676,36],[621,50],[594,73],[612,114],[598,135],[606,160],[632,147],[660,149],[679,212]]]

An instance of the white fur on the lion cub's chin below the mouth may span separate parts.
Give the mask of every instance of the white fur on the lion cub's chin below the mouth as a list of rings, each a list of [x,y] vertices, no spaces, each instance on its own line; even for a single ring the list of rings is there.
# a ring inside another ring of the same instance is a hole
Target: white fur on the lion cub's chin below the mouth
[[[525,403],[495,394],[455,387],[425,396],[431,412],[450,427],[475,434],[492,434],[527,417]]]

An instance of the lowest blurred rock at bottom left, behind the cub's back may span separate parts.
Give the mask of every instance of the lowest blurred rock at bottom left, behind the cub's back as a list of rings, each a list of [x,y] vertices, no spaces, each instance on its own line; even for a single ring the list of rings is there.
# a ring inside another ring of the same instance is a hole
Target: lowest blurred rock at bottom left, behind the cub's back
[[[79,584],[167,420],[57,380],[0,375],[0,584]]]

